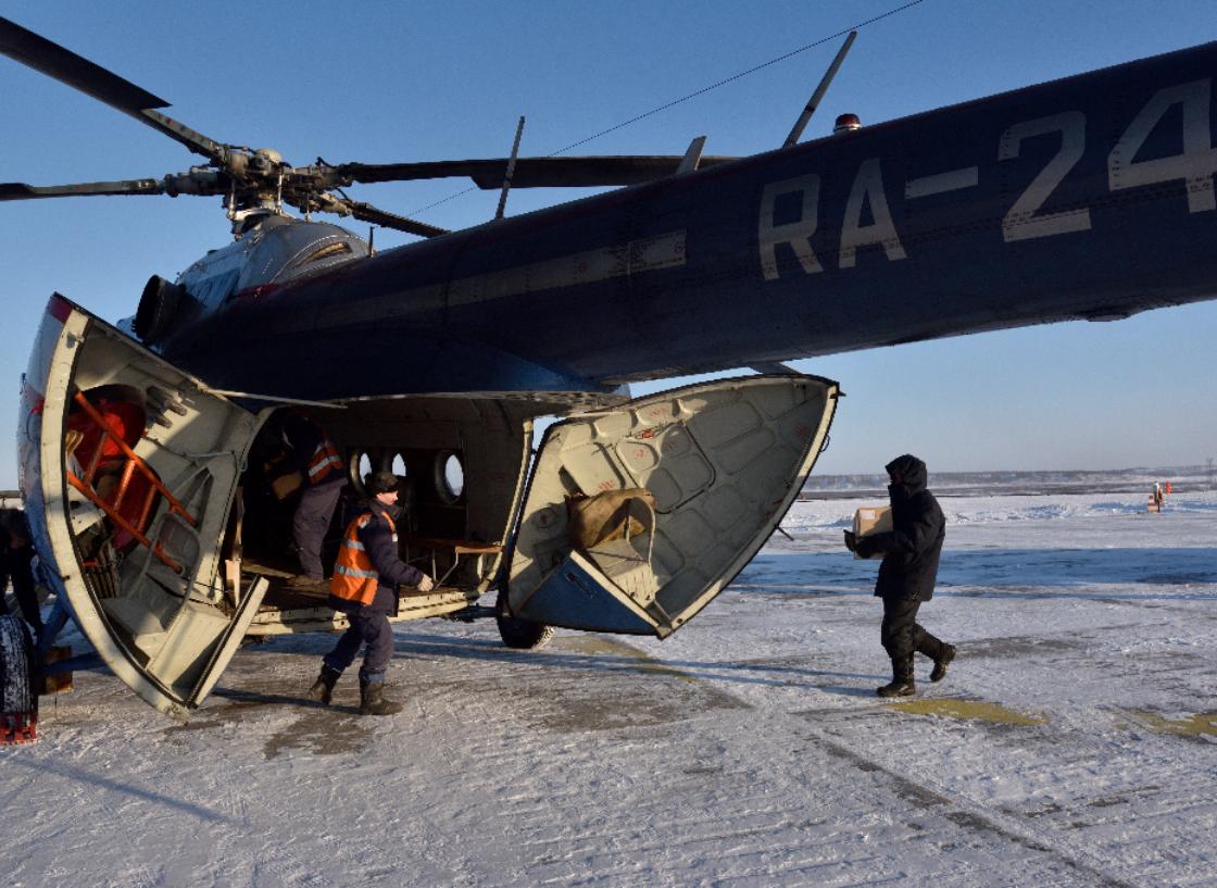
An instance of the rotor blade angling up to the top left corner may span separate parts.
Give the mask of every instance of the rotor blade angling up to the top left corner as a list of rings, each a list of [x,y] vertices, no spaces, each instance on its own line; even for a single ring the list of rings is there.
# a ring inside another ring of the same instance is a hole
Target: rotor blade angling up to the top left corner
[[[0,17],[0,54],[74,86],[124,115],[130,115],[197,155],[213,161],[220,161],[226,156],[225,147],[219,143],[152,110],[168,107],[169,102],[164,99],[2,17]]]

